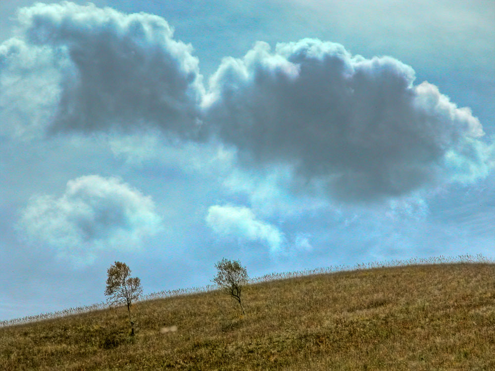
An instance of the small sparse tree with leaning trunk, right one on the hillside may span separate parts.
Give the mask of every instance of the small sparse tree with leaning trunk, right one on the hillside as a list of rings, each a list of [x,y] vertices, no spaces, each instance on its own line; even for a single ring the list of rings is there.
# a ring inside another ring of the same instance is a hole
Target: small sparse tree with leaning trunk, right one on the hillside
[[[217,275],[213,278],[215,282],[226,294],[237,300],[241,306],[243,314],[246,315],[244,305],[241,300],[241,292],[247,284],[246,267],[241,266],[239,260],[228,260],[223,258],[215,264]]]

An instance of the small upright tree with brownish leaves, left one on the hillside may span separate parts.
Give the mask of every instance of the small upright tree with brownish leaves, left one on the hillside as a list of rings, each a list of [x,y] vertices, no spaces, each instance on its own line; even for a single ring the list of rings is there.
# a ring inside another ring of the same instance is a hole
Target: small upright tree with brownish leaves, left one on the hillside
[[[134,322],[131,317],[131,305],[143,294],[141,279],[131,276],[131,269],[125,263],[115,262],[107,270],[105,295],[109,304],[126,304],[131,335],[134,335]]]

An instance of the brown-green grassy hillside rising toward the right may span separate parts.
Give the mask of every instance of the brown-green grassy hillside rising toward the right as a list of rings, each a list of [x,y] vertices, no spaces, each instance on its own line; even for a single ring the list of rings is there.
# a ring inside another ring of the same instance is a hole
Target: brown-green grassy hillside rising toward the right
[[[0,370],[495,370],[495,265],[375,268],[0,328]],[[176,331],[160,331],[164,326]]]

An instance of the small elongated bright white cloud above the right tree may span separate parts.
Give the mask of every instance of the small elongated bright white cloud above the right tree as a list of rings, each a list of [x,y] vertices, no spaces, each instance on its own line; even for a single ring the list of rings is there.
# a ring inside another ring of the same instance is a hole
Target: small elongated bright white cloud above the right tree
[[[284,234],[277,227],[256,219],[247,207],[210,206],[206,223],[215,233],[222,236],[266,243],[272,253],[279,252],[285,240]]]

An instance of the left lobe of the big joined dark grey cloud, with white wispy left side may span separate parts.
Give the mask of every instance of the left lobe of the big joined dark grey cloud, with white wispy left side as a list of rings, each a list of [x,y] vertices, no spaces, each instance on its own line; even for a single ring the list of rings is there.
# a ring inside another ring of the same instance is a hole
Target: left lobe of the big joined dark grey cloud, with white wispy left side
[[[0,104],[15,82],[19,95],[53,107],[45,115],[52,132],[148,124],[174,134],[194,131],[202,94],[198,59],[192,46],[173,39],[163,18],[63,2],[22,8],[18,21],[18,36],[0,47]],[[54,93],[32,94],[43,83]]]

